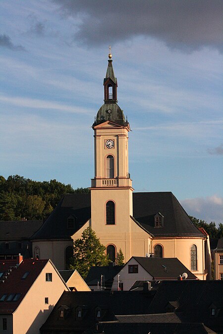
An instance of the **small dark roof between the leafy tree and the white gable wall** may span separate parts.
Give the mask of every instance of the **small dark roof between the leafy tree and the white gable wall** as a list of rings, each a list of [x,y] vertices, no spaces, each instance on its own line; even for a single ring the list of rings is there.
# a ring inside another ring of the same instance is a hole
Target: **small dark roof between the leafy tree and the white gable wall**
[[[91,267],[85,282],[89,286],[97,285],[101,281],[101,275],[104,275],[106,283],[113,282],[114,276],[119,273],[123,266],[105,266],[105,267]]]

